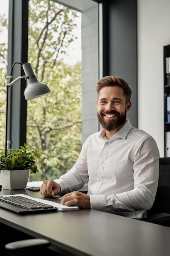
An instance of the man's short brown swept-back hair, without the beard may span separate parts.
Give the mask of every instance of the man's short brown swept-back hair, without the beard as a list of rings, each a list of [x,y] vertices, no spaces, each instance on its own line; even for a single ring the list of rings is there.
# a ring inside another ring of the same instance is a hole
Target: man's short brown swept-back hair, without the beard
[[[123,93],[126,99],[126,103],[130,101],[132,90],[128,83],[125,82],[121,77],[119,76],[104,76],[102,79],[100,79],[97,83],[97,98],[99,97],[99,92],[101,88],[105,86],[120,86],[123,88]]]

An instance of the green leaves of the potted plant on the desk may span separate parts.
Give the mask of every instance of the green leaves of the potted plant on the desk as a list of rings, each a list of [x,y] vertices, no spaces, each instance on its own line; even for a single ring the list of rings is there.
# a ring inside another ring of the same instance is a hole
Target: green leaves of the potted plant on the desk
[[[0,169],[4,170],[25,170],[30,169],[31,173],[38,172],[36,159],[40,158],[38,150],[31,150],[29,146],[24,144],[16,150],[8,150],[9,154],[5,156],[1,153]]]

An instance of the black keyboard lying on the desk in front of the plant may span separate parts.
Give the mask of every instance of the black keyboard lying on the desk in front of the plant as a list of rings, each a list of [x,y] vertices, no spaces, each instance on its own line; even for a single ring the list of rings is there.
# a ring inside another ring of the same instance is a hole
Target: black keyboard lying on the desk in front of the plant
[[[57,210],[57,207],[46,204],[45,202],[38,202],[36,198],[34,200],[32,198],[30,199],[22,195],[1,196],[0,207],[22,215]]]

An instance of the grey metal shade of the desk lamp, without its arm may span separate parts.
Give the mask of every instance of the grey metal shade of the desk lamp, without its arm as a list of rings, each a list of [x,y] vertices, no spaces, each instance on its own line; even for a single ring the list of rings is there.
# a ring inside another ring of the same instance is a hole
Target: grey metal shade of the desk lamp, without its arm
[[[22,67],[28,81],[28,85],[24,92],[26,100],[35,99],[51,92],[45,83],[39,82],[36,79],[30,63],[23,64]]]

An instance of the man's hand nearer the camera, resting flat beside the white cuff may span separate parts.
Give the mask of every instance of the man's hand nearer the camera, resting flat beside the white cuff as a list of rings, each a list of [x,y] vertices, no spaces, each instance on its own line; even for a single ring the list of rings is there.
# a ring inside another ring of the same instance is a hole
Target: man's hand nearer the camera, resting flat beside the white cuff
[[[81,209],[90,209],[89,195],[74,191],[63,196],[61,204],[66,206],[78,206]]]

